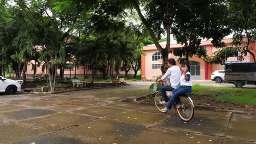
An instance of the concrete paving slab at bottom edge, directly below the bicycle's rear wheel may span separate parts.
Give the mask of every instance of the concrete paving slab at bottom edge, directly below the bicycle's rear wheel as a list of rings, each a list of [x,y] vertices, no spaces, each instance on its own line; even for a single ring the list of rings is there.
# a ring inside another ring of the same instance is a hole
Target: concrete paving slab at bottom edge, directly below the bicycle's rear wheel
[[[147,129],[124,143],[212,143],[220,144],[222,137],[185,133],[173,130]]]

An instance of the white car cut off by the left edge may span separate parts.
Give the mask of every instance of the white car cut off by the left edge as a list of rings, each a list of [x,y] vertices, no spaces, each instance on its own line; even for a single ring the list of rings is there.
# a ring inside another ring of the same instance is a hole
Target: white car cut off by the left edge
[[[21,89],[21,85],[18,81],[6,79],[0,76],[0,92],[15,94],[19,92]]]

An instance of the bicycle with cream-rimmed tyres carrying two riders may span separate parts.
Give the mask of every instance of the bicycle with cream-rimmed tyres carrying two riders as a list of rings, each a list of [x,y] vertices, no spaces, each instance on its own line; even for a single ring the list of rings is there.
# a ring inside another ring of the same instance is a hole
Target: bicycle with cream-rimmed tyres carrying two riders
[[[165,82],[162,83],[165,85]],[[171,98],[172,92],[166,91],[166,95],[167,97]],[[188,94],[181,95],[179,98],[183,102],[184,106],[178,108],[176,102],[174,101],[172,108],[177,110],[179,117],[181,117],[183,121],[189,122],[194,116],[194,103]],[[159,103],[162,100],[164,100],[164,98],[162,97],[161,92],[156,93],[154,98],[155,106],[160,112],[166,113],[167,111],[161,110],[165,106],[164,104]]]

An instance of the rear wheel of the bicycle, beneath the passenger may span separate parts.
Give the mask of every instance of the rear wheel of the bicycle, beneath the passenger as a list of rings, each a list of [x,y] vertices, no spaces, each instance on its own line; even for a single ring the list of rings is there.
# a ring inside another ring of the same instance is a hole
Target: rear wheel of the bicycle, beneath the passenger
[[[179,97],[184,104],[181,108],[177,108],[179,117],[185,122],[189,122],[194,116],[194,104],[188,95]]]

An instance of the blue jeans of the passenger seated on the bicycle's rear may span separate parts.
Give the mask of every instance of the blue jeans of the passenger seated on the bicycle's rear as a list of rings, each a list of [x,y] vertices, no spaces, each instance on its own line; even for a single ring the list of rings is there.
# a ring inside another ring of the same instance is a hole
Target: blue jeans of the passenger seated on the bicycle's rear
[[[181,96],[182,94],[191,93],[191,92],[192,92],[192,87],[191,86],[181,86],[177,89],[174,89],[172,91],[172,98],[168,102],[168,104],[166,105],[166,108],[168,110],[171,110],[174,101],[176,101],[177,104],[181,105],[182,101],[181,101],[181,99],[179,99],[179,96]]]

